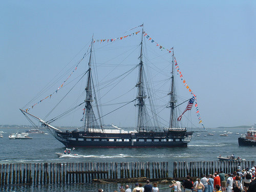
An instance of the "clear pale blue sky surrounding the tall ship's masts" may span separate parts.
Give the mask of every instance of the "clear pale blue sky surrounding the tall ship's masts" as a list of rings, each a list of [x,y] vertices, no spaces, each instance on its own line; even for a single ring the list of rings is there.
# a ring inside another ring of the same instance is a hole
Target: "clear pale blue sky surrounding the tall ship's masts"
[[[1,5],[0,124],[29,124],[18,109],[63,66],[80,58],[92,34],[96,39],[119,37],[141,23],[159,44],[175,47],[206,127],[256,122],[255,1],[5,1]],[[59,125],[77,124],[67,120]]]

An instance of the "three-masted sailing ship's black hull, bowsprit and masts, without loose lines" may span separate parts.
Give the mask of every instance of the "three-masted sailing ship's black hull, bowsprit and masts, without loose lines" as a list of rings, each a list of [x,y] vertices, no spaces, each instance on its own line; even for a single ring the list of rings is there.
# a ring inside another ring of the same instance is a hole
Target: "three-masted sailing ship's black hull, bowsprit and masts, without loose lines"
[[[142,29],[143,31],[143,29]],[[84,116],[82,129],[74,131],[61,130],[51,124],[52,120],[40,119],[26,110],[20,109],[24,115],[37,119],[46,129],[66,147],[186,147],[190,142],[193,132],[188,132],[186,127],[178,125],[176,106],[177,94],[175,88],[175,66],[174,52],[172,52],[172,71],[170,71],[170,91],[168,108],[169,126],[158,127],[152,123],[151,118],[146,116],[145,100],[149,99],[145,89],[145,73],[143,63],[143,32],[141,33],[140,56],[138,67],[137,96],[134,98],[137,110],[137,129],[125,131],[118,126],[104,127],[101,123],[101,116],[96,117],[93,106],[97,105],[97,98],[94,96],[94,83],[92,75],[92,52],[94,39],[91,41],[90,57],[87,70],[86,97],[79,105],[84,105]],[[191,98],[193,99],[193,98]],[[190,100],[191,100],[190,99]],[[188,101],[188,100],[187,100]],[[93,102],[95,104],[93,105]],[[191,102],[190,107],[193,105]],[[188,105],[189,106],[189,105]],[[189,110],[189,109],[188,109]]]

